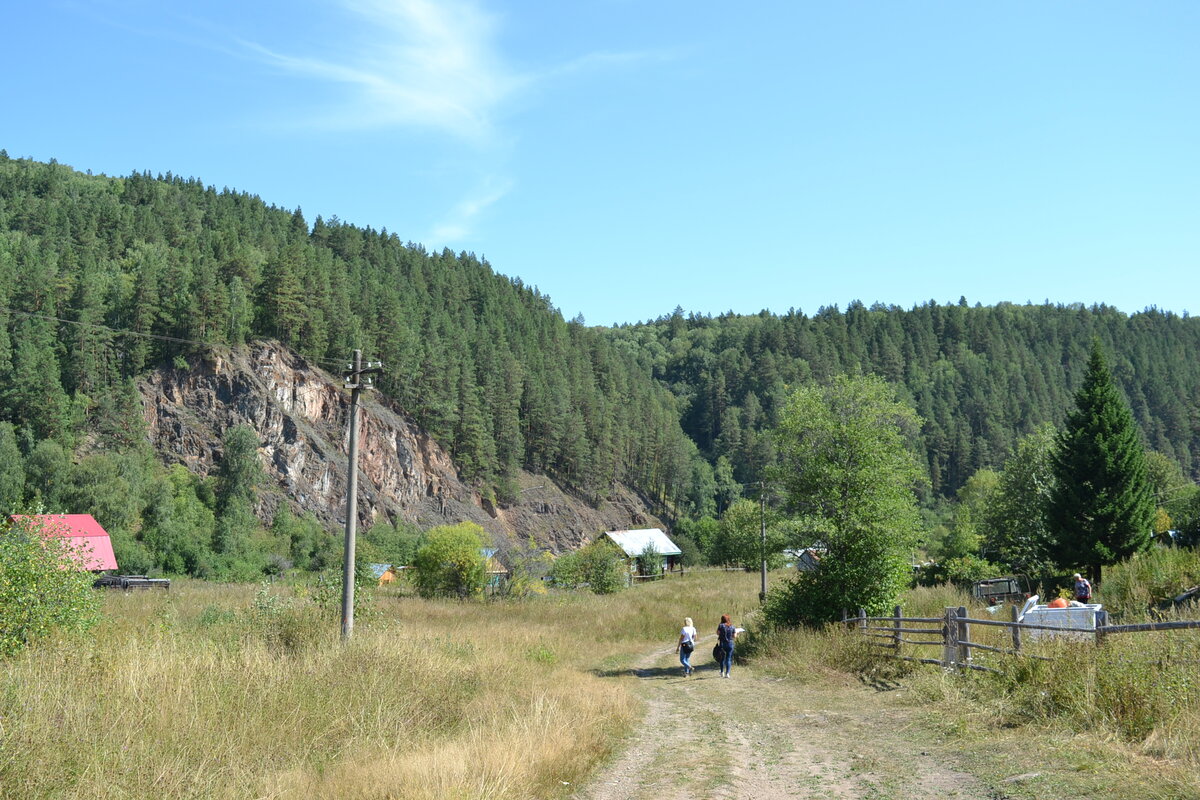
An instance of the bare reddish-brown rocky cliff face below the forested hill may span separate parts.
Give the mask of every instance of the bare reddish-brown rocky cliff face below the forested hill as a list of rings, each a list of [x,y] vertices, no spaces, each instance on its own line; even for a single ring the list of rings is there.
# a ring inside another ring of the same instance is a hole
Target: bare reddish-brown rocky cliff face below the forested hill
[[[260,495],[270,522],[281,503],[330,528],[346,522],[349,391],[287,348],[258,342],[211,353],[191,369],[163,369],[140,385],[151,441],[168,464],[199,475],[221,459],[235,425],[259,437],[263,468],[278,492]],[[404,519],[422,528],[462,521],[492,534],[533,537],[554,551],[598,533],[659,525],[636,495],[614,492],[599,507],[550,479],[523,474],[520,500],[494,507],[458,480],[449,455],[398,409],[364,391],[359,407],[359,524]]]

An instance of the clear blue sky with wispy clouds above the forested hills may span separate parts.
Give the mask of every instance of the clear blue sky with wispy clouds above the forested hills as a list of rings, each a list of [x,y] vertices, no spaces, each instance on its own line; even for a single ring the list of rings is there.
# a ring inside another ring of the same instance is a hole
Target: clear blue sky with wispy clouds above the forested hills
[[[173,172],[589,324],[1200,312],[1200,4],[12,4],[0,148]]]

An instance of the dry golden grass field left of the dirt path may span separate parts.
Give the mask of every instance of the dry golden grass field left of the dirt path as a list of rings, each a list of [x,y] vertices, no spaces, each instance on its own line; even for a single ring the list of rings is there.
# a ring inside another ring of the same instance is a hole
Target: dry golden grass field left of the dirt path
[[[89,637],[5,664],[0,796],[563,795],[637,715],[607,675],[756,594],[725,572],[602,597],[382,590],[343,645],[283,585],[113,593]]]

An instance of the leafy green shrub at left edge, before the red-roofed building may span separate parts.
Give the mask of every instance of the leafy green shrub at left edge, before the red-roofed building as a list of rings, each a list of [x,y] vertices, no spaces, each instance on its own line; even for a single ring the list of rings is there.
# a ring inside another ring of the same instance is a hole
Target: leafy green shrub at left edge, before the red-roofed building
[[[29,518],[0,528],[0,657],[56,630],[91,627],[100,596],[65,539]]]

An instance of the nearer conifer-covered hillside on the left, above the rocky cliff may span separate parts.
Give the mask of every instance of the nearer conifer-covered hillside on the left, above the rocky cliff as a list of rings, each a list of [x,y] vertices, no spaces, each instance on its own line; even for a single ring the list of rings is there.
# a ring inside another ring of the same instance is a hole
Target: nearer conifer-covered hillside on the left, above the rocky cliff
[[[499,501],[524,467],[674,505],[695,446],[642,353],[568,324],[468,253],[428,253],[178,176],[92,176],[0,154],[0,421],[22,450],[137,439],[130,379],[274,337],[379,387]]]

